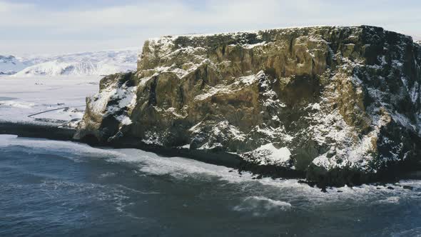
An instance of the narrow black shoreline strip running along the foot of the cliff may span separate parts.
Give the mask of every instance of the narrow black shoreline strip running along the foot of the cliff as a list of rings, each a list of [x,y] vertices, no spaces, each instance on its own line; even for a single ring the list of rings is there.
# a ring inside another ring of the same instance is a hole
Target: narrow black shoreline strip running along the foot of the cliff
[[[334,173],[326,173],[324,177],[314,178],[308,176],[305,171],[294,171],[279,166],[259,166],[254,163],[248,163],[243,161],[240,156],[233,153],[226,153],[218,150],[201,151],[201,150],[189,150],[188,148],[163,148],[161,146],[150,145],[141,141],[136,141],[136,138],[125,138],[118,142],[112,143],[93,143],[90,141],[76,140],[73,138],[76,133],[76,128],[69,128],[59,126],[54,123],[23,123],[23,122],[11,122],[11,121],[0,121],[0,134],[16,135],[19,137],[27,138],[46,138],[57,141],[72,141],[78,143],[85,143],[92,147],[109,147],[109,148],[135,148],[142,151],[148,151],[158,154],[158,156],[164,157],[183,157],[191,158],[196,161],[204,163],[210,163],[217,166],[225,166],[233,168],[233,171],[242,173],[248,171],[256,175],[255,178],[297,178],[301,183],[307,183],[309,186],[317,186],[322,191],[326,191],[328,187],[340,187],[340,186],[360,186],[365,183],[372,185],[384,186],[387,183],[395,183],[405,178],[421,179],[421,164],[414,168],[408,166],[408,164],[402,163],[398,168],[393,168],[387,171],[383,171],[379,176],[364,176],[362,173],[360,180],[347,181],[347,175],[342,177],[344,181],[341,185],[330,183],[326,181],[326,178],[332,178],[335,175],[337,177],[342,176],[340,173],[349,171],[333,171]],[[345,173],[346,174],[346,173]],[[355,175],[352,174],[351,175]]]

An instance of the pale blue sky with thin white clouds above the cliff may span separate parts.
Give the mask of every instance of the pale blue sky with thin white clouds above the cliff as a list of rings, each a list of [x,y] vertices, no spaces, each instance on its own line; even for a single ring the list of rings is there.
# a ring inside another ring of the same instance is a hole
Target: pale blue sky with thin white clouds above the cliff
[[[421,39],[419,0],[0,0],[0,55],[141,49],[148,38],[290,26],[382,26]]]

